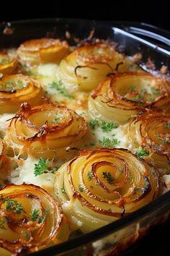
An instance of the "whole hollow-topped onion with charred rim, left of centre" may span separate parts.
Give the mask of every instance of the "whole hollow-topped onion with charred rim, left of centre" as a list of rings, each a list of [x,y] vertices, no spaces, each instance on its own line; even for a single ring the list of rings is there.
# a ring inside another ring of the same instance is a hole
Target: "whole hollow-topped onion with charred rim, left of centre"
[[[4,140],[17,155],[27,152],[53,159],[68,145],[76,145],[85,135],[86,127],[84,118],[65,106],[43,103],[31,107],[23,103]]]

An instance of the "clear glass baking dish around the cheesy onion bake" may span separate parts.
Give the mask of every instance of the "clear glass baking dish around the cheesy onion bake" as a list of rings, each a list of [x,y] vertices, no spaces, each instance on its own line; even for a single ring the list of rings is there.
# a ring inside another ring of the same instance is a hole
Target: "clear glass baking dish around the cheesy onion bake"
[[[157,27],[135,22],[96,22],[90,20],[48,19],[0,24],[0,48],[19,46],[31,38],[87,38],[91,29],[97,38],[110,38],[125,48],[128,55],[143,54],[153,59],[156,68],[170,67],[170,33]],[[170,214],[170,191],[129,216],[109,223],[88,234],[73,237],[62,244],[30,255],[117,255],[143,237],[151,226],[163,223]]]

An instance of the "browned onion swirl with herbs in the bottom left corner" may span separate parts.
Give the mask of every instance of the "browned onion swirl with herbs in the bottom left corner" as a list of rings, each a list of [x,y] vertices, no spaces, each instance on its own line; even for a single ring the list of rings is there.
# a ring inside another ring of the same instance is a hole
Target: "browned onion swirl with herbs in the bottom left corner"
[[[1,189],[0,212],[1,255],[6,255],[4,249],[20,255],[68,239],[60,205],[35,185],[12,184]]]

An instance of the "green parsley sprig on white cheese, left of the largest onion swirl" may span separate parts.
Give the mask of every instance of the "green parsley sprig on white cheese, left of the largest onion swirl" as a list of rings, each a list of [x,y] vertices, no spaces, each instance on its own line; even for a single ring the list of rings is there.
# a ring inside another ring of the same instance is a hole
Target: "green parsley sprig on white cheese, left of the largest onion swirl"
[[[43,158],[40,158],[38,163],[35,163],[35,176],[41,175],[41,174],[55,174],[58,171],[58,168],[48,168],[48,159],[45,160]]]

